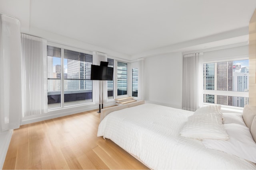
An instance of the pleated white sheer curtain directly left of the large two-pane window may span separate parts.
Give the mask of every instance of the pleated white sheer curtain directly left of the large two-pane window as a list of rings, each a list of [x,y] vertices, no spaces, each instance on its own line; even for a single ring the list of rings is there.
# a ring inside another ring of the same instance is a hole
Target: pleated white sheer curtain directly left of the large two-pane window
[[[47,113],[47,42],[21,35],[23,117]]]

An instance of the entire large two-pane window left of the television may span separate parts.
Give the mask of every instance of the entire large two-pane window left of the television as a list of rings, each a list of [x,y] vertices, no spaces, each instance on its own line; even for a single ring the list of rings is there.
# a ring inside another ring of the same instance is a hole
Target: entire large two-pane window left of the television
[[[51,46],[47,55],[48,108],[92,102],[92,55]]]

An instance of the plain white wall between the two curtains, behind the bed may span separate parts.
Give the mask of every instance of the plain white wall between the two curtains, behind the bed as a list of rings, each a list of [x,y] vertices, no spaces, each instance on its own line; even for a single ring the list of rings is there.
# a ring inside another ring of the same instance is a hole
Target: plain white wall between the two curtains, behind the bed
[[[182,108],[182,63],[182,53],[146,58],[146,102]]]

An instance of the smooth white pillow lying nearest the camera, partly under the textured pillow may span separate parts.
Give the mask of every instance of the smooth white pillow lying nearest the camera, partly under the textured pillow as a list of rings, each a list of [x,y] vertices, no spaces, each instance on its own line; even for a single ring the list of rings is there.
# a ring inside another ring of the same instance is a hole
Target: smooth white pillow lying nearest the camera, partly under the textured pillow
[[[226,141],[203,140],[204,146],[256,163],[256,143],[252,139],[249,128],[235,123],[224,124],[224,127],[230,139]]]

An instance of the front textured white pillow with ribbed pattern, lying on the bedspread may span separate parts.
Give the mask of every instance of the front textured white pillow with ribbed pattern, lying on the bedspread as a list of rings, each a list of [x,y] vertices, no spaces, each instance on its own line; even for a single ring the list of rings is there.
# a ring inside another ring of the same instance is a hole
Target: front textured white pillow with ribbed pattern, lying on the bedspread
[[[222,115],[219,113],[188,117],[188,121],[182,128],[180,135],[193,139],[227,140],[229,138],[222,124]]]

